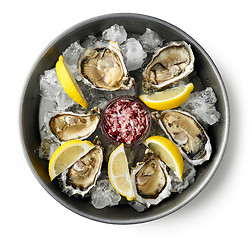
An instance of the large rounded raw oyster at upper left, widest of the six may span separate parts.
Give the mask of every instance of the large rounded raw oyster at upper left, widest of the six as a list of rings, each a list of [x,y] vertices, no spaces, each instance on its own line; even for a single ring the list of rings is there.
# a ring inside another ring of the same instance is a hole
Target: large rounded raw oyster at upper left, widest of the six
[[[78,70],[85,84],[100,90],[128,90],[135,83],[134,78],[128,76],[122,52],[114,41],[97,41],[84,49]]]

